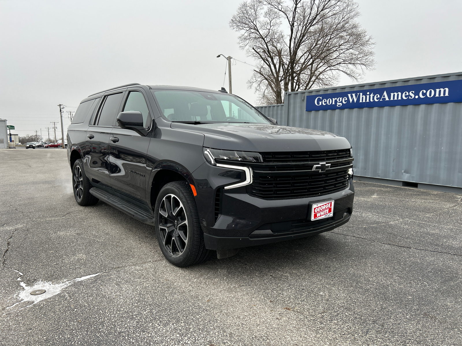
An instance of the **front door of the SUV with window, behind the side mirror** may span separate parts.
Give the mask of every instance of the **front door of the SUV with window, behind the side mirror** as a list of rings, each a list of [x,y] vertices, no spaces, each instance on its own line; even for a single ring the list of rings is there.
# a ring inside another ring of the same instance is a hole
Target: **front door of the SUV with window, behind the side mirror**
[[[128,89],[121,112],[143,114],[145,128],[152,123],[152,110],[141,88]],[[110,184],[123,198],[146,201],[146,154],[150,138],[133,130],[114,127],[109,140]]]

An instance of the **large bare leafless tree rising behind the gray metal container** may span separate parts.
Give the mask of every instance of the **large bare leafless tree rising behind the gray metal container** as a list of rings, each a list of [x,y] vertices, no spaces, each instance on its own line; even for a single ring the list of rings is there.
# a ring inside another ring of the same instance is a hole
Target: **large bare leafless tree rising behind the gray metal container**
[[[283,102],[285,91],[324,88],[341,73],[359,81],[375,64],[374,42],[356,21],[353,0],[249,0],[231,18],[239,44],[257,61],[249,79],[260,103]]]

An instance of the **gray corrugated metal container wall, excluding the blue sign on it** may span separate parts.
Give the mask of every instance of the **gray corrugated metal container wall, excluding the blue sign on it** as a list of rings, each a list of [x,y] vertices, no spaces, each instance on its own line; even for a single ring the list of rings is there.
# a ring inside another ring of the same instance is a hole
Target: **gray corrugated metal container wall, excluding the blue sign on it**
[[[462,79],[462,72],[291,92],[283,107],[257,108],[272,118],[267,110],[277,112],[280,125],[346,137],[353,146],[355,175],[462,187],[462,103],[306,112],[304,101],[305,95],[456,79]]]

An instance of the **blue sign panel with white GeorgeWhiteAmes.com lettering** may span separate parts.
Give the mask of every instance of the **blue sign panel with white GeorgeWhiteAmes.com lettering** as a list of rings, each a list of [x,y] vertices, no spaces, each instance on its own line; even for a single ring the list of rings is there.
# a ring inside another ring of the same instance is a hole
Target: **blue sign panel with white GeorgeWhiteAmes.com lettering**
[[[462,102],[462,79],[306,96],[306,111]]]

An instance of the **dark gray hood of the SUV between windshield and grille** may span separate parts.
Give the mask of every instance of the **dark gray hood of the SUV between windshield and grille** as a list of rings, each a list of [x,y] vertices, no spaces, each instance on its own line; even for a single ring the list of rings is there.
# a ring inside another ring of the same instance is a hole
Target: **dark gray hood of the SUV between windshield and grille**
[[[205,135],[204,147],[242,151],[309,151],[349,149],[345,137],[299,127],[269,124],[182,124],[171,123],[179,130]]]

